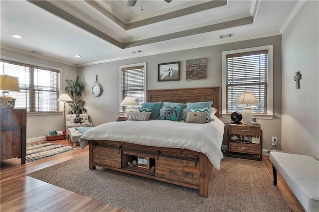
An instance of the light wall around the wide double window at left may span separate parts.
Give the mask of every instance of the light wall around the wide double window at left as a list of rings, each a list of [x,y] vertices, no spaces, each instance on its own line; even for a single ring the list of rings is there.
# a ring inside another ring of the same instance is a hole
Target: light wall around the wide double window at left
[[[14,51],[1,49],[1,58],[5,59],[12,58],[13,60],[19,60],[20,62],[37,63],[46,66],[51,66],[55,68],[62,69],[61,72],[61,91],[65,93],[64,88],[68,85],[65,80],[71,79],[75,80],[77,76],[77,68],[62,63],[57,63],[50,60],[41,59],[38,57],[33,57],[26,54],[17,53]],[[21,61],[22,60],[22,61]],[[61,111],[63,110],[63,105],[61,106]],[[68,106],[68,105],[67,105]],[[68,111],[69,107],[66,108]],[[64,117],[63,113],[59,112],[57,114],[47,114],[47,115],[31,115],[27,114],[26,118],[26,139],[27,142],[33,142],[38,140],[45,140],[45,135],[51,130],[64,130]]]

